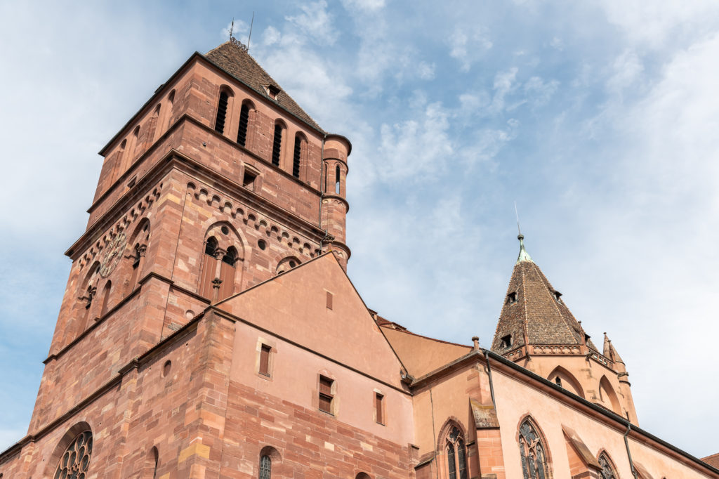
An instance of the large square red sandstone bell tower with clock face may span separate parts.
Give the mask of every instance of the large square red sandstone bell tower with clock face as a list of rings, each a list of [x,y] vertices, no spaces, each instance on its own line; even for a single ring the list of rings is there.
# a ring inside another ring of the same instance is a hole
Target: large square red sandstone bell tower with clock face
[[[346,268],[351,150],[242,43],[193,54],[100,151],[28,434],[208,306],[325,251]]]

